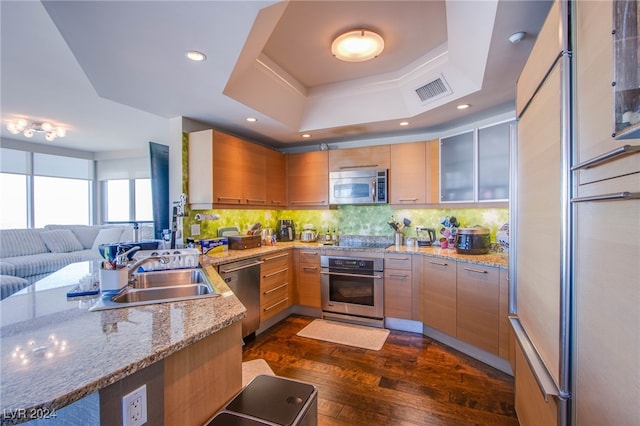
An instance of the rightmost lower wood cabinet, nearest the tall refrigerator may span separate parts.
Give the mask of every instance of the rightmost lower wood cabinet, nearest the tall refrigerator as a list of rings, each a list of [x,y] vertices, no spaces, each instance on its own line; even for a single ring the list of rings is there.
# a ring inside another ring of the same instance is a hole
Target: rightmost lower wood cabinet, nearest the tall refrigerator
[[[458,339],[499,355],[500,280],[498,268],[458,262]]]

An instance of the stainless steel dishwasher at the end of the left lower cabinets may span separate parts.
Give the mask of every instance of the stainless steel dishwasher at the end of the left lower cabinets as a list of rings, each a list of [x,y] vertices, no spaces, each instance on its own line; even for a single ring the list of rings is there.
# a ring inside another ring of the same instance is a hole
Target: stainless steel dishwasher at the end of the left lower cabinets
[[[242,337],[247,337],[260,327],[261,263],[256,257],[225,263],[218,268],[222,279],[247,308],[247,316],[242,320]]]

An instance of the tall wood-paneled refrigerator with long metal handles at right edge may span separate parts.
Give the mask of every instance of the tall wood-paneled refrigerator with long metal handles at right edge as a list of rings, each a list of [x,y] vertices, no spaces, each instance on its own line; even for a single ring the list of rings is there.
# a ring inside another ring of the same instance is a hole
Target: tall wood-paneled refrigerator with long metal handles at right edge
[[[635,0],[555,2],[518,80],[510,312],[523,426],[640,424],[640,141],[621,125],[640,111],[634,22]],[[621,39],[635,40],[620,55],[631,63],[616,62]]]

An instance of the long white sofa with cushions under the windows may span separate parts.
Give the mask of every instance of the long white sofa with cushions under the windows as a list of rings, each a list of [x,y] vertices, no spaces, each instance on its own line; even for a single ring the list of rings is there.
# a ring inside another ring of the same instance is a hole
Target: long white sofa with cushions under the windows
[[[153,228],[140,228],[140,240],[153,239]],[[100,244],[133,241],[131,226],[46,225],[0,230],[1,297],[74,262],[100,260]]]

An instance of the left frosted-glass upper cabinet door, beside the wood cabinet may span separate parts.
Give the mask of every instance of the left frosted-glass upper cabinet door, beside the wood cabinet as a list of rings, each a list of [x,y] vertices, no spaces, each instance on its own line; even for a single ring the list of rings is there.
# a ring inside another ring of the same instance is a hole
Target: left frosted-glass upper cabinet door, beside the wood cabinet
[[[440,201],[473,202],[474,133],[440,139]]]

